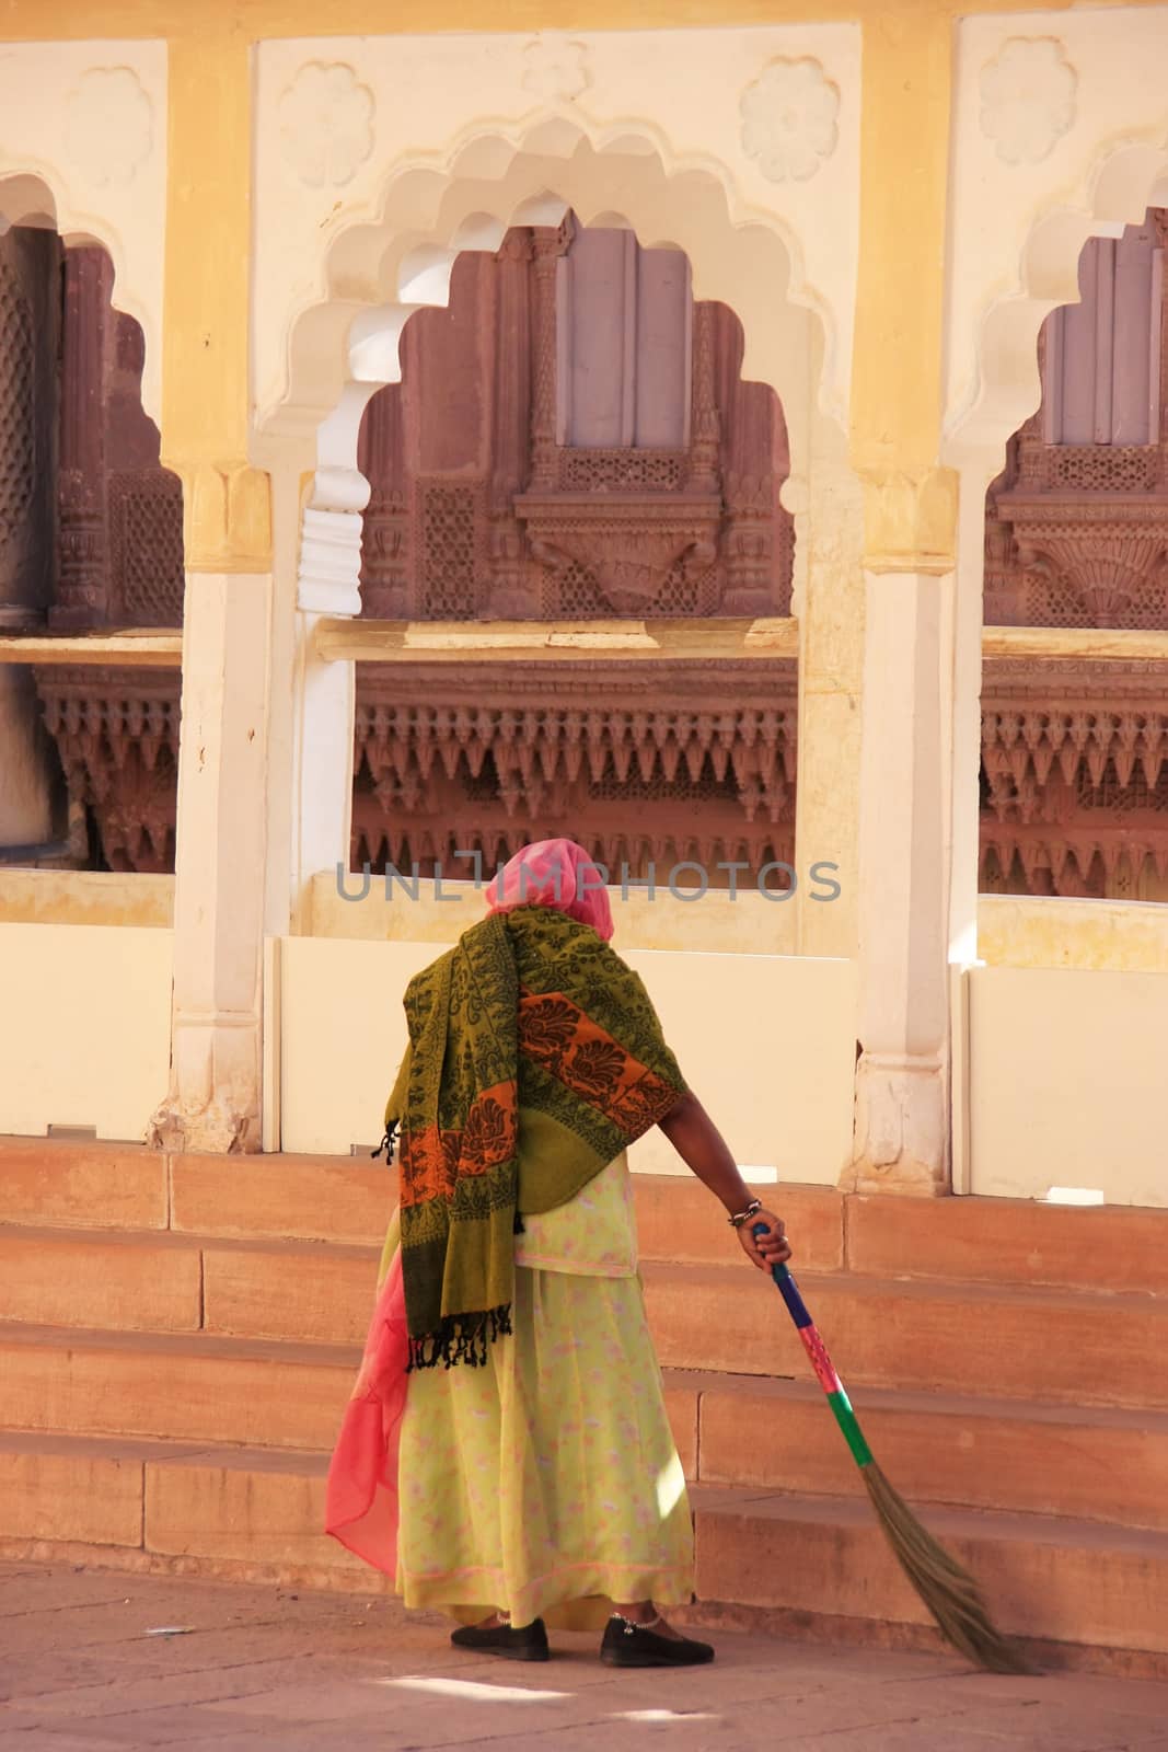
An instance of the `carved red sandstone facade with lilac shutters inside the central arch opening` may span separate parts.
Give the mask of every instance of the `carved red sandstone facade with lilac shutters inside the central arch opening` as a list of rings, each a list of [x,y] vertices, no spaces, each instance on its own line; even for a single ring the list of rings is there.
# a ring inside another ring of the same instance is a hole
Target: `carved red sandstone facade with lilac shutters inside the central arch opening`
[[[511,231],[405,333],[361,434],[366,613],[786,611],[783,415],[683,256],[571,221]]]

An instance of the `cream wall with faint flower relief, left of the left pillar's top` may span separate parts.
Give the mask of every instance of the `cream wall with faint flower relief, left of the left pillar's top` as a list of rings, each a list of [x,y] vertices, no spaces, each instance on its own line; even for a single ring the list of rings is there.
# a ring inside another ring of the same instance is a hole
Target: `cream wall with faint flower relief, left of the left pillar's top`
[[[0,26],[2,28],[2,26]],[[105,245],[114,305],[145,333],[142,405],[161,401],[166,242],[166,44],[0,44],[0,217],[44,210],[68,244]]]

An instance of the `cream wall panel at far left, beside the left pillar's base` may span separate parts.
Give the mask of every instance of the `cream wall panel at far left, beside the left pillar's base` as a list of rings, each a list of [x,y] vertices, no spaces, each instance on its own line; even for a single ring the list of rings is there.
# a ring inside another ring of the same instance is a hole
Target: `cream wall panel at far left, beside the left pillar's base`
[[[0,925],[0,1134],[142,1141],[166,1093],[173,934]]]

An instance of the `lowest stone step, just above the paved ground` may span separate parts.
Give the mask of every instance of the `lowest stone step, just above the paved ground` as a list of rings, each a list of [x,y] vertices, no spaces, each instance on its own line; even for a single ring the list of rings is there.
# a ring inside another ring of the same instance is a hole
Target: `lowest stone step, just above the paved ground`
[[[0,1435],[0,1552],[369,1589],[320,1533],[324,1456]],[[697,1487],[697,1612],[839,1638],[925,1629],[865,1498]],[[996,1624],[1075,1650],[1168,1652],[1168,1535],[1075,1519],[928,1510]]]

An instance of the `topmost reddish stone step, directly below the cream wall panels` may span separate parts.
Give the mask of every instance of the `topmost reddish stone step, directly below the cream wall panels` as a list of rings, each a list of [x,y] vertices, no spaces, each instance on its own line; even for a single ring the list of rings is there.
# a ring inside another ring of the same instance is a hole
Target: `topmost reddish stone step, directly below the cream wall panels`
[[[634,1176],[646,1260],[713,1265],[734,1247],[690,1176]],[[1168,1211],[1023,1198],[841,1197],[758,1188],[802,1272],[1168,1295]],[[396,1170],[364,1156],[166,1156],[142,1146],[0,1139],[0,1225],[173,1230],[221,1240],[380,1247]]]

